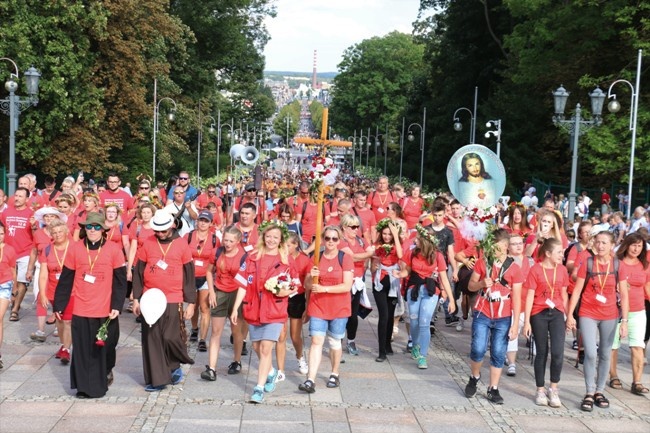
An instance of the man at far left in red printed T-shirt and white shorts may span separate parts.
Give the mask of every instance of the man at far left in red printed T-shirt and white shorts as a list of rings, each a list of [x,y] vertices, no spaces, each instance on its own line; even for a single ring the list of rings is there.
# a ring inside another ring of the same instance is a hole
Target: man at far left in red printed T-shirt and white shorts
[[[13,197],[13,206],[0,214],[0,221],[5,226],[5,243],[11,245],[16,251],[16,291],[14,302],[11,308],[9,320],[17,322],[20,318],[20,304],[27,292],[27,264],[29,254],[32,252],[33,235],[32,224],[34,223],[34,211],[27,205],[29,190],[25,187],[18,187]]]

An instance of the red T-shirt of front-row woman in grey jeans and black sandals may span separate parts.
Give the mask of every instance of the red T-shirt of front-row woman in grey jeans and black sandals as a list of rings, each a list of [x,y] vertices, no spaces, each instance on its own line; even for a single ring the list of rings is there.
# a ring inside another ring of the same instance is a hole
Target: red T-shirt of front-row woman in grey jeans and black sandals
[[[578,268],[578,278],[585,280],[582,288],[582,303],[580,304],[580,317],[589,317],[594,320],[613,320],[618,318],[616,306],[616,276],[614,275],[614,259],[610,259],[609,267],[598,264],[598,259],[593,258],[591,268],[592,276],[587,280],[587,264]],[[605,273],[607,272],[607,275]],[[602,275],[597,275],[602,273]],[[620,268],[619,268],[620,273]]]

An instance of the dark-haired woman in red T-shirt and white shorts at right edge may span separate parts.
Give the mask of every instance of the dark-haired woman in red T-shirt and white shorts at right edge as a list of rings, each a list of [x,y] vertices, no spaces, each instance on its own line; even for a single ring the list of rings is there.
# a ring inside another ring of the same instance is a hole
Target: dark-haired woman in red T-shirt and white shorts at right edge
[[[645,299],[650,299],[650,268],[648,268],[646,249],[644,237],[635,232],[630,233],[623,239],[621,246],[616,252],[616,256],[620,261],[619,280],[628,286],[630,312],[627,316],[629,320],[627,322],[627,334],[632,358],[631,391],[636,395],[648,393],[648,388],[641,383],[643,361],[645,358],[643,354],[643,348],[645,347],[643,338],[647,323]],[[612,346],[612,361],[609,367],[609,384],[612,388],[622,388],[621,381],[616,372],[618,348],[620,345],[621,340],[617,333]]]

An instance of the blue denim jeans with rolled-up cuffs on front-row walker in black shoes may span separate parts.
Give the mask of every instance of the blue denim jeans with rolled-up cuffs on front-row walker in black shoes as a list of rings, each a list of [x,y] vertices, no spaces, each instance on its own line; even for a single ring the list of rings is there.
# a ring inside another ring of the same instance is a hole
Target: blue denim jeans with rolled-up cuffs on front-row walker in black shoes
[[[512,320],[510,317],[490,319],[481,312],[474,312],[472,315],[472,349],[470,359],[474,362],[483,361],[487,351],[488,338],[490,337],[490,365],[495,368],[503,368],[508,349],[508,331]]]

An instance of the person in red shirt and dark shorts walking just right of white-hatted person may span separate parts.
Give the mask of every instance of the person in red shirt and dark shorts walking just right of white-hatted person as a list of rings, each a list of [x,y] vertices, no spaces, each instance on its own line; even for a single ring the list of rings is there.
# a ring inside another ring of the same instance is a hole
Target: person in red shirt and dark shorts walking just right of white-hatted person
[[[194,309],[194,315],[192,316],[190,341],[199,340],[197,346],[199,352],[208,350],[205,339],[208,336],[208,327],[210,326],[210,303],[206,271],[210,262],[214,260],[215,253],[220,245],[217,235],[210,230],[211,226],[212,214],[208,210],[202,210],[196,220],[196,228],[184,236],[192,250],[194,279],[196,281],[197,303],[199,306],[199,308]],[[199,315],[201,318],[200,325]]]

